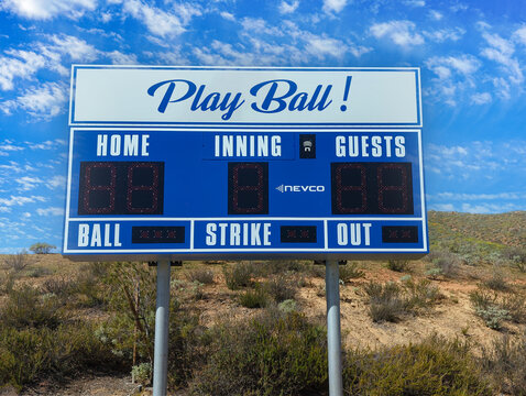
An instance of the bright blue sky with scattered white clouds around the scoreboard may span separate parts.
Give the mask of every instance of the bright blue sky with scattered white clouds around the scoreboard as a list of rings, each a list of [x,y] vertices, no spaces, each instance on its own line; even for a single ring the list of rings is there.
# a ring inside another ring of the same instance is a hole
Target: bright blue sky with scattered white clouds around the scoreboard
[[[523,1],[0,0],[0,253],[62,245],[72,64],[420,67],[428,209],[526,210]]]

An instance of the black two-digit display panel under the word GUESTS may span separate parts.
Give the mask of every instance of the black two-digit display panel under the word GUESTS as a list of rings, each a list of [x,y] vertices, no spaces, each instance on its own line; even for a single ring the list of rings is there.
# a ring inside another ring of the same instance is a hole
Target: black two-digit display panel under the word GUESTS
[[[410,163],[331,163],[333,215],[413,215]]]

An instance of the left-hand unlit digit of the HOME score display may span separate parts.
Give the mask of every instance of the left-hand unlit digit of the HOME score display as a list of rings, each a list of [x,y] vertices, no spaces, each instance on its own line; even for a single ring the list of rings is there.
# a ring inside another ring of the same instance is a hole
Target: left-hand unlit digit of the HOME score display
[[[113,213],[116,209],[117,167],[111,163],[84,165],[84,194],[79,215]]]

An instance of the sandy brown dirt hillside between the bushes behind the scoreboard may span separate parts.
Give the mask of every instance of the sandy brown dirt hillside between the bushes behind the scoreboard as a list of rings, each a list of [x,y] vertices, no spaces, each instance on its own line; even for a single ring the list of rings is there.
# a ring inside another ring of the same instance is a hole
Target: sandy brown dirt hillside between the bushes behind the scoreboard
[[[507,252],[508,248],[514,248],[516,251],[522,249],[524,254],[526,212],[467,215],[431,211],[429,228],[431,254],[428,257],[414,262],[355,262],[341,267],[341,327],[347,349],[375,350],[418,343],[436,334],[448,340],[467,341],[474,355],[481,356],[495,340],[503,337],[519,339],[525,333],[526,273],[520,271],[524,270],[520,266],[524,256],[511,256]],[[7,258],[0,257],[0,262],[6,264]],[[79,283],[88,274],[92,276],[86,264],[69,262],[58,254],[32,255],[28,260],[28,265],[11,276],[14,288],[30,285],[50,293],[54,282],[63,282],[66,286]],[[229,287],[228,277],[234,268],[242,266],[249,268],[250,283],[235,288],[231,287],[230,279]],[[2,290],[7,290],[9,274],[13,272],[12,267],[4,265]],[[154,270],[150,272],[154,276]],[[200,278],[206,273],[209,282]],[[278,301],[277,293],[286,292],[288,287],[294,309],[322,323],[326,314],[324,273],[322,266],[309,262],[185,262],[183,267],[173,268],[172,294],[185,311],[198,315],[198,324],[202,329],[209,329],[226,318],[246,321],[257,315],[263,308],[252,308],[242,298],[257,290],[255,285],[265,290],[266,301]],[[405,301],[405,308],[387,319],[375,316],[373,309],[382,304],[376,298],[379,295],[374,295],[373,286],[377,286],[377,292],[379,287],[386,285],[397,288],[398,298]],[[90,292],[75,293],[68,298],[77,318],[101,323],[112,315],[103,304],[73,304],[90,297]],[[481,301],[490,295],[492,300]],[[1,293],[0,307],[7,305],[9,298],[9,293]],[[490,318],[490,314],[483,311],[489,305],[483,304],[492,304],[508,315]],[[492,319],[496,321],[492,322]],[[96,375],[67,381],[64,386],[40,378],[40,383],[30,385],[23,394],[102,395],[103,392],[89,391],[91,385],[103,388],[101,381],[108,382],[108,395],[125,395],[133,388],[122,375]],[[177,395],[185,394],[184,389],[178,392]]]

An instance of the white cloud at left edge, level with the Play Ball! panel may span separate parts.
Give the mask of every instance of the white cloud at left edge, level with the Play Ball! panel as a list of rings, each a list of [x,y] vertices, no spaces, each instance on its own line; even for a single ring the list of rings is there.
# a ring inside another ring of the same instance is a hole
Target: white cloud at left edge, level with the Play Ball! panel
[[[64,84],[44,82],[33,87],[14,100],[0,103],[0,110],[4,114],[11,114],[17,110],[24,110],[35,121],[50,120],[67,110],[68,87]]]

